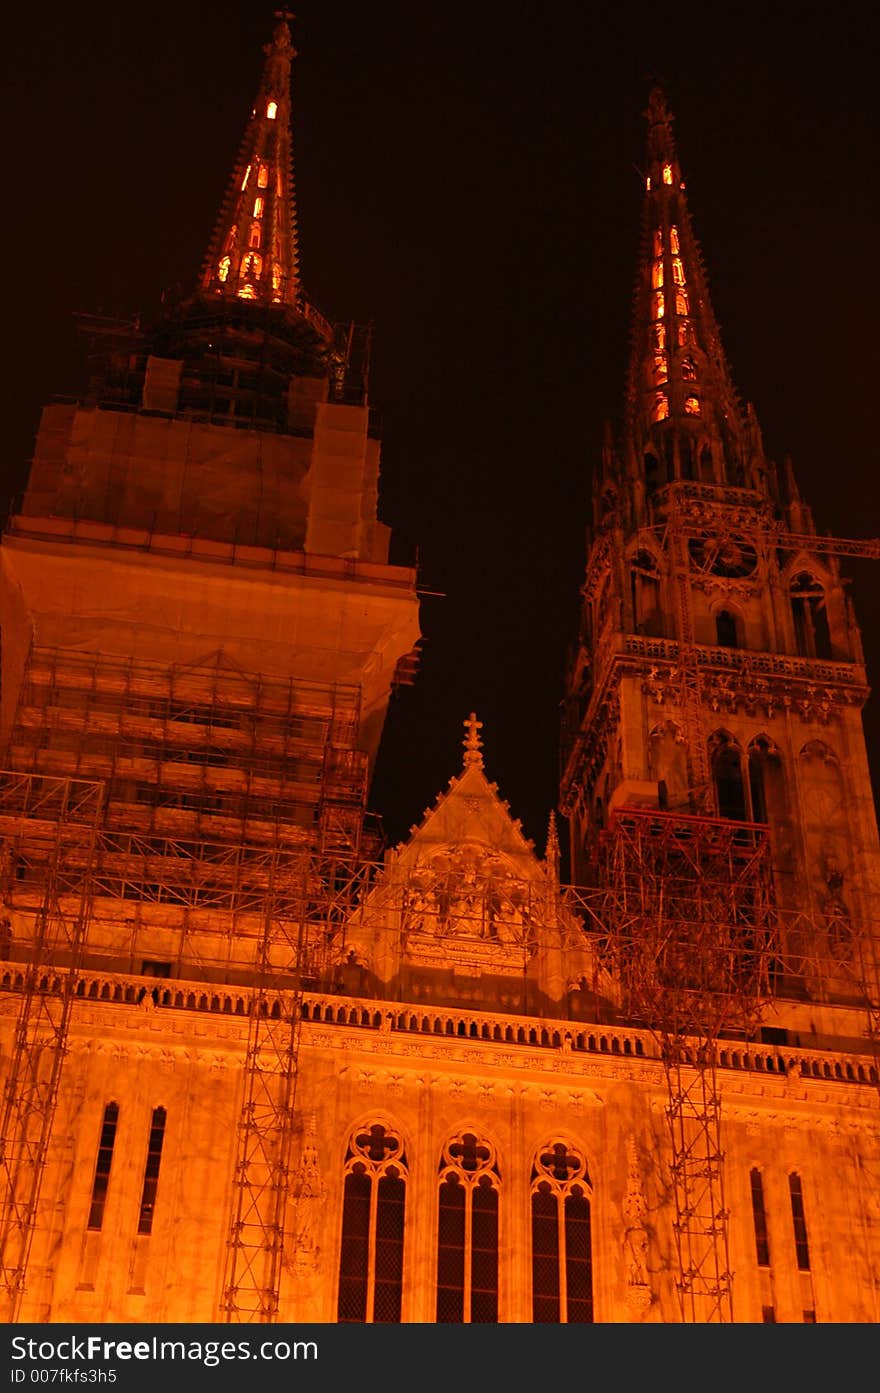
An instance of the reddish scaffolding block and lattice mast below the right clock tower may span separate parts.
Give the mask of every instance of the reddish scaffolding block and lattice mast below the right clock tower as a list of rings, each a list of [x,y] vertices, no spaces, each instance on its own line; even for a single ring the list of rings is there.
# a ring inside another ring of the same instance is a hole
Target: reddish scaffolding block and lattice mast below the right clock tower
[[[627,1014],[657,1039],[667,1085],[684,1322],[732,1322],[716,1041],[753,1031],[773,958],[766,829],[620,811],[600,848],[599,914]]]

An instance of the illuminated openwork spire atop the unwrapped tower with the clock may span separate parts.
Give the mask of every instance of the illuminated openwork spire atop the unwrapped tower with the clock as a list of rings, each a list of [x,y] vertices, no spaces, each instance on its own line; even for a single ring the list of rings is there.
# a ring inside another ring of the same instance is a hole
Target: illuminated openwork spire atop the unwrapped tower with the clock
[[[749,454],[693,235],[673,117],[647,103],[642,252],[628,379],[627,433],[660,478],[741,483]]]

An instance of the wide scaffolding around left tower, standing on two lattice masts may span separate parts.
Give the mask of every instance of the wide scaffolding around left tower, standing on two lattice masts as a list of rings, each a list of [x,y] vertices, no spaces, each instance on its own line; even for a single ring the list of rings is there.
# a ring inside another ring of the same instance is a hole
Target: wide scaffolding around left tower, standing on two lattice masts
[[[155,978],[201,981],[209,995],[244,986],[221,1308],[230,1321],[277,1318],[299,999],[322,979],[375,850],[359,716],[352,685],[255,677],[221,660],[164,667],[32,651],[14,768],[0,773],[6,904],[21,925],[11,951],[24,965],[3,1128],[11,1318],[84,964],[143,978],[135,999],[156,999]]]

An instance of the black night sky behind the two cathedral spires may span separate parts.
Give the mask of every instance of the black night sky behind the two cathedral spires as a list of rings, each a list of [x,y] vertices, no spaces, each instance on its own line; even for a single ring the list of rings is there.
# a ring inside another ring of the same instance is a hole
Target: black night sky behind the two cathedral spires
[[[81,386],[75,311],[198,273],[272,6],[50,0],[4,20],[3,492]],[[820,531],[880,535],[876,54],[858,6],[302,0],[304,283],[373,322],[380,510],[419,559],[423,660],[372,805],[398,840],[483,720],[543,848],[589,481],[629,333],[643,118],[664,81],[734,380]],[[849,561],[880,667],[880,563]],[[874,766],[880,716],[867,708]]]

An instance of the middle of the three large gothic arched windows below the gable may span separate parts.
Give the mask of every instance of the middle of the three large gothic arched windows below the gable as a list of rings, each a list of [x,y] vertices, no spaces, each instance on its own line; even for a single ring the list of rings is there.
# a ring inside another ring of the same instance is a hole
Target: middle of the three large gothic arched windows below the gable
[[[494,1148],[459,1133],[443,1151],[437,1230],[437,1321],[498,1319],[498,1170]]]

